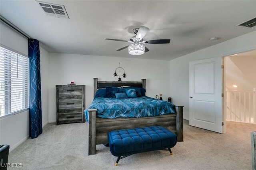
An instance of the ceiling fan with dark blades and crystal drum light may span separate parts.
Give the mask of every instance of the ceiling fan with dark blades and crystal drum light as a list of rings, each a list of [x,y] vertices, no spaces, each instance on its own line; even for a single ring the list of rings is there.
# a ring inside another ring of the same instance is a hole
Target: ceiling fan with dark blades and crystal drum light
[[[106,38],[105,40],[113,40],[113,41],[120,41],[120,42],[129,42],[130,45],[122,47],[116,51],[121,51],[123,49],[128,48],[129,54],[131,55],[141,55],[149,51],[147,47],[145,47],[144,43],[170,43],[170,39],[161,39],[161,40],[148,40],[144,41],[143,38],[148,32],[148,28],[144,26],[140,26],[140,28],[133,29],[135,36],[133,36],[130,40],[118,40],[118,39],[110,39]]]

